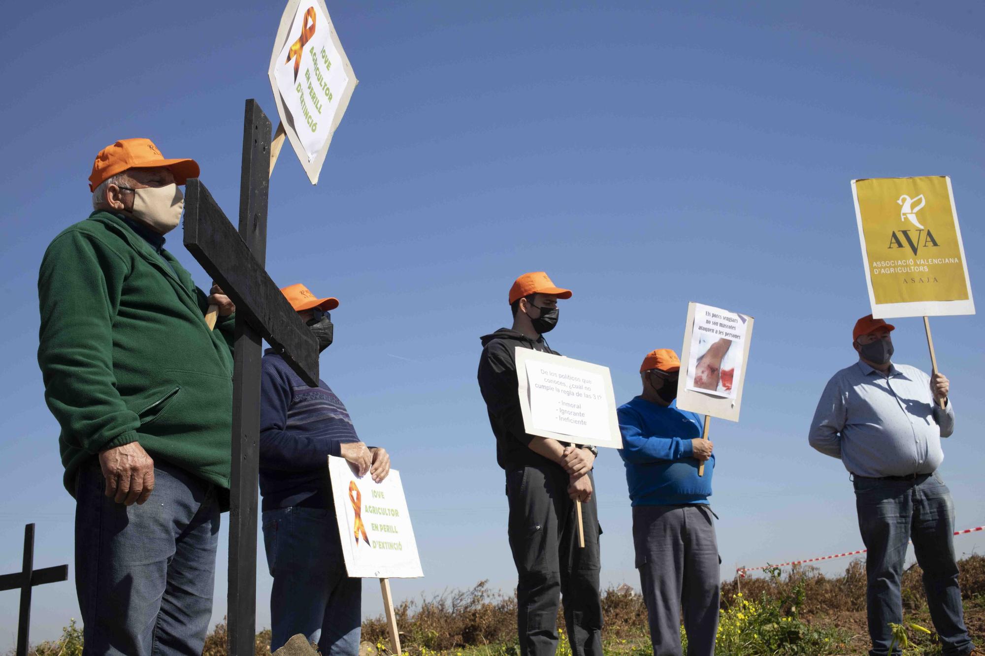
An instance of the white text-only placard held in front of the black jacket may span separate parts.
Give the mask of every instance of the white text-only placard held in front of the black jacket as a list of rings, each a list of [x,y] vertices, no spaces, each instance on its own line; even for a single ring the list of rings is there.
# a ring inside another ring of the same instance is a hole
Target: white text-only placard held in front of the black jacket
[[[524,429],[563,442],[623,448],[609,367],[516,347]]]

